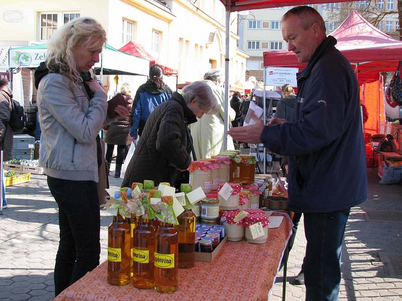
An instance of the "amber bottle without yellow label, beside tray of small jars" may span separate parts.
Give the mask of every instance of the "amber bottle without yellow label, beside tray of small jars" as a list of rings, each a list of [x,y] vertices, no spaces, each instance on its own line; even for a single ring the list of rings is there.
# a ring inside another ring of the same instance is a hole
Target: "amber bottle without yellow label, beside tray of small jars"
[[[195,215],[190,209],[185,209],[178,217],[178,225],[174,228],[178,232],[179,239],[179,268],[194,266],[194,241],[195,241]]]

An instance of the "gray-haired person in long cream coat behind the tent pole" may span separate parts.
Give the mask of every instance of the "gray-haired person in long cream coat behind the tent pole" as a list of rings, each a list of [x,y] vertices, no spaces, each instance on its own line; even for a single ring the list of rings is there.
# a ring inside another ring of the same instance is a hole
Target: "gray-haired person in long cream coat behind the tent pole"
[[[198,122],[191,124],[191,136],[194,141],[195,155],[198,159],[211,158],[222,153],[223,138],[225,132],[225,91],[223,84],[223,73],[221,70],[212,69],[205,73],[204,82],[211,87],[211,90],[218,101],[218,112],[212,115],[205,115]],[[235,120],[236,112],[230,106],[229,121]],[[233,139],[228,136],[227,149],[234,149]]]

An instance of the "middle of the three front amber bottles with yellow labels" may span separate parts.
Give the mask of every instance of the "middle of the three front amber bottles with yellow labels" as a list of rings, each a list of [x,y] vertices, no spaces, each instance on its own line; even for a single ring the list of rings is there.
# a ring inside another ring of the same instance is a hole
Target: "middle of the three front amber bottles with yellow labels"
[[[149,219],[140,217],[133,236],[133,285],[137,288],[152,288],[155,284],[155,228]]]

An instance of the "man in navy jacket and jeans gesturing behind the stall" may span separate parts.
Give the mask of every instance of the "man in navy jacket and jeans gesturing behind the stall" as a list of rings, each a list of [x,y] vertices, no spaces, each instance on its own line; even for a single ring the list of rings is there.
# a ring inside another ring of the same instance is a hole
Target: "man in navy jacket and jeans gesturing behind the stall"
[[[289,156],[289,208],[304,214],[307,239],[306,300],[335,301],[350,208],[367,198],[359,88],[315,9],[289,10],[282,17],[282,36],[298,62],[308,63],[297,75],[293,122],[274,118],[265,126],[256,118],[256,123],[229,133]]]

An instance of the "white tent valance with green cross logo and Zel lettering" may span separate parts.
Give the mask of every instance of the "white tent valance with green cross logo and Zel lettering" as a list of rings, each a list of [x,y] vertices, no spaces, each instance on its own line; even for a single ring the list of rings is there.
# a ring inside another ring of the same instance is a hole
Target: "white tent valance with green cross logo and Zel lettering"
[[[10,68],[38,67],[41,62],[46,60],[47,49],[10,49]]]

